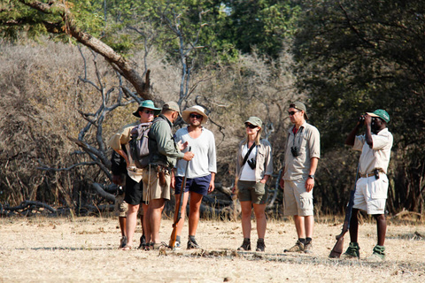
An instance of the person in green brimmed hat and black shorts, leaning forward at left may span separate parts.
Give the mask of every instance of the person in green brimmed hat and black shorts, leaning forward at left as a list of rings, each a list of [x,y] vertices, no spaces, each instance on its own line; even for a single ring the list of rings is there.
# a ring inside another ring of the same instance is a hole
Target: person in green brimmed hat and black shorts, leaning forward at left
[[[131,139],[131,130],[135,126],[139,125],[143,127],[150,127],[154,117],[159,114],[159,111],[160,109],[156,108],[151,100],[144,100],[143,103],[140,103],[137,111],[133,113],[133,115],[139,118],[139,120],[120,128],[120,131],[113,134],[109,141],[109,146],[125,160],[127,166],[126,193],[124,202],[128,203],[128,211],[127,221],[125,223],[125,234],[123,234],[122,239],[124,241],[121,240],[120,246],[120,248],[125,250],[132,248],[133,235],[135,233],[135,226],[137,222],[137,211],[139,210],[139,206],[140,203],[142,203],[143,198],[143,186],[140,182],[140,180],[142,180],[142,170],[135,167],[135,162],[129,154],[130,151],[128,142],[130,142]],[[122,185],[120,178],[114,177],[112,181],[119,186]],[[143,210],[146,212],[146,204],[143,204]],[[143,218],[146,218],[146,213],[143,213]],[[120,225],[122,224],[121,222],[122,220],[120,221]],[[145,223],[146,221],[142,220],[143,234],[146,231]],[[141,244],[143,241],[144,239],[142,236]]]

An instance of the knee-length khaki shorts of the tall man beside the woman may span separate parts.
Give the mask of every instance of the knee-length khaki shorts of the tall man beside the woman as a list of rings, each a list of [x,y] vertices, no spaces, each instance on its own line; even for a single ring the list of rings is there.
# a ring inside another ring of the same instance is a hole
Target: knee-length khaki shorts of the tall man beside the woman
[[[313,215],[313,189],[305,191],[305,179],[285,180],[283,210],[285,216]]]

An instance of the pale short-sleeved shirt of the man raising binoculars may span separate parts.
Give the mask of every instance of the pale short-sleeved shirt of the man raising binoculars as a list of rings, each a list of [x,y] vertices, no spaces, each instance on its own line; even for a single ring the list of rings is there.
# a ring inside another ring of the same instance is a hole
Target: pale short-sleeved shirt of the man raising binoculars
[[[374,147],[371,149],[366,142],[365,135],[356,136],[352,149],[361,151],[359,159],[361,174],[374,172],[375,168],[381,168],[383,172],[387,173],[392,139],[392,134],[388,128],[384,128],[378,134],[372,134]]]

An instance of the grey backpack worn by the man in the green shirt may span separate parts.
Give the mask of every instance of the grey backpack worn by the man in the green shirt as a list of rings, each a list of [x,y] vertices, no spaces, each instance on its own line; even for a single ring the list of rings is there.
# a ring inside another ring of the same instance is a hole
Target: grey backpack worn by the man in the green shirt
[[[131,129],[131,140],[128,142],[130,155],[137,168],[144,168],[150,162],[149,157],[149,131],[152,123],[143,123]]]

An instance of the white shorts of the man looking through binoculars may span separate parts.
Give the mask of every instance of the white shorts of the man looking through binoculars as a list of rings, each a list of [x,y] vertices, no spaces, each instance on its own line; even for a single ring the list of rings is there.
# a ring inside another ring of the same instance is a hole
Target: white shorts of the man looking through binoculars
[[[379,179],[375,176],[360,178],[356,184],[354,194],[355,209],[365,210],[367,214],[384,214],[385,203],[388,193],[388,178],[385,174],[379,174]]]

